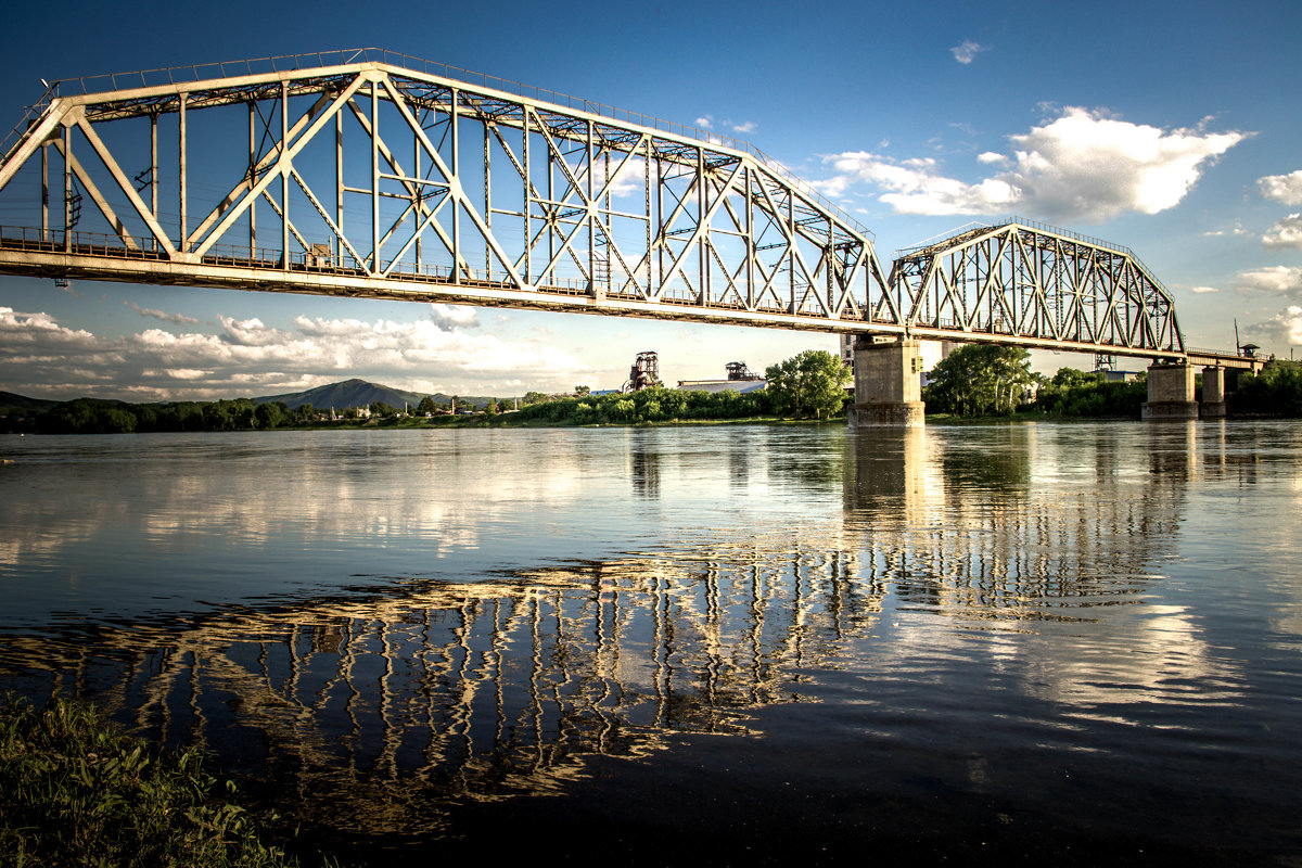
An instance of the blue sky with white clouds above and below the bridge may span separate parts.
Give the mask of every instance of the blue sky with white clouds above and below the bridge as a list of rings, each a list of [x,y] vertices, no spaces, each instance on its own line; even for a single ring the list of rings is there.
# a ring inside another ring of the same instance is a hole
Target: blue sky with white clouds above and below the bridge
[[[7,12],[0,124],[55,79],[376,46],[743,138],[896,249],[1018,213],[1125,243],[1193,346],[1302,349],[1302,4],[176,4]],[[8,118],[8,120],[5,120]],[[831,337],[0,277],[0,389],[133,400],[760,370]],[[1036,354],[1039,370],[1088,366]],[[1138,363],[1131,363],[1131,366]]]

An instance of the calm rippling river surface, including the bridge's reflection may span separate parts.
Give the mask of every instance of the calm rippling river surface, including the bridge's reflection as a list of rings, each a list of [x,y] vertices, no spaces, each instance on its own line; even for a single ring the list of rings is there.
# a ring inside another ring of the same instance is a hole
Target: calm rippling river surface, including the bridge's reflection
[[[0,458],[0,688],[352,864],[1302,864],[1297,423]]]

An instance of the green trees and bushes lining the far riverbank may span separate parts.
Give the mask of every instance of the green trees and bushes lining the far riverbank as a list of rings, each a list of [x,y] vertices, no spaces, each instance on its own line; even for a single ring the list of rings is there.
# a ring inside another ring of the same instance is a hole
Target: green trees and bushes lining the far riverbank
[[[236,398],[126,403],[77,398],[49,406],[0,409],[4,433],[130,433],[370,428],[540,428],[667,424],[789,424],[844,420],[850,398],[848,372],[829,353],[811,350],[768,368],[762,390],[703,392],[654,387],[639,392],[570,396],[527,393],[522,400],[488,400],[474,411],[453,413],[432,397],[413,411],[383,402],[322,411],[280,401]],[[14,396],[18,397],[18,396]],[[932,422],[995,419],[1138,419],[1147,400],[1141,373],[1111,381],[1101,372],[1060,368],[1052,377],[1030,371],[1016,347],[969,345],[930,373],[923,389]],[[30,401],[30,400],[27,400]],[[519,405],[518,409],[516,405]],[[456,406],[456,400],[453,400]],[[464,405],[462,405],[464,406]],[[1240,377],[1228,398],[1229,415],[1302,416],[1302,363],[1272,360],[1260,373]]]

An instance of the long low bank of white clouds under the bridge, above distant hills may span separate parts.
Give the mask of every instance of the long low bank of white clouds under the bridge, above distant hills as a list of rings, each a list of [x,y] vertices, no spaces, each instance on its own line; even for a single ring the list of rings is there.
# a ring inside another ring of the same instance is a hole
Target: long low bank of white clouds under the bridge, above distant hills
[[[0,381],[35,397],[158,401],[280,394],[354,376],[487,394],[525,375],[531,388],[559,390],[595,375],[542,341],[467,331],[475,311],[464,306],[431,307],[414,321],[299,315],[273,328],[258,318],[217,320],[216,333],[154,327],[107,338],[0,307]]]

